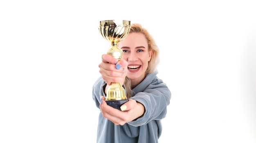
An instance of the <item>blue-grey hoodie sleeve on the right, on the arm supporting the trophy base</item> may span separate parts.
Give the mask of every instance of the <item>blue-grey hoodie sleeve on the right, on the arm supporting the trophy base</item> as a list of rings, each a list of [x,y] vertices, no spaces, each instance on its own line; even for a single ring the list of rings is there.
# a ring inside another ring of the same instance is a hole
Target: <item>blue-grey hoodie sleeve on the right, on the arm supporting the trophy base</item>
[[[156,78],[143,92],[138,92],[131,99],[143,104],[145,112],[144,115],[128,124],[142,126],[151,120],[160,120],[166,117],[167,106],[171,100],[171,91],[161,79]]]

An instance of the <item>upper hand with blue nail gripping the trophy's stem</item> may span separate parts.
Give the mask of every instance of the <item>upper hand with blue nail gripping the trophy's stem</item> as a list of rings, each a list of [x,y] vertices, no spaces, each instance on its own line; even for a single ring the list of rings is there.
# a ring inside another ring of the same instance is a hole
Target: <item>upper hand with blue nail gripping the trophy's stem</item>
[[[103,54],[101,58],[102,61],[99,64],[99,72],[101,73],[103,80],[105,80],[108,85],[110,85],[111,82],[119,82],[123,85],[128,72],[127,61],[117,61],[116,58],[113,58],[109,54]]]

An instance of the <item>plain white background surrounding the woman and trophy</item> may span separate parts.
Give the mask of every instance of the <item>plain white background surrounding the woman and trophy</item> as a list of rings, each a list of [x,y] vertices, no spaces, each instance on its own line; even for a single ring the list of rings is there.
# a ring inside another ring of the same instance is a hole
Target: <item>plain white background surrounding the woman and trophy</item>
[[[2,0],[0,142],[94,143],[100,20],[141,23],[171,90],[160,143],[256,143],[253,0]]]

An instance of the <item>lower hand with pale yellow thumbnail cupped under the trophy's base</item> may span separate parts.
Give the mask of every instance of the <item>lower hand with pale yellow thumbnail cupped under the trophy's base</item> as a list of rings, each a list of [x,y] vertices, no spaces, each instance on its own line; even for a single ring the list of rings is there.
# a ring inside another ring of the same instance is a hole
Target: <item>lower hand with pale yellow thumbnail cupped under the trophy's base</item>
[[[127,122],[130,122],[138,117],[141,117],[144,114],[144,106],[136,102],[135,100],[130,99],[128,102],[121,106],[121,110],[108,106],[104,96],[101,97],[100,104],[101,114],[103,117],[112,121],[115,125],[123,126]]]

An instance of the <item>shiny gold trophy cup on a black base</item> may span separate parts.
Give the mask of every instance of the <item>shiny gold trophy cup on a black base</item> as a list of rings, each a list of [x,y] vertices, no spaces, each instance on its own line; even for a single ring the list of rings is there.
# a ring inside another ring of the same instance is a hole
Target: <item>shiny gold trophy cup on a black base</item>
[[[115,22],[115,20],[103,20],[99,22],[99,32],[108,41],[111,42],[111,48],[108,49],[107,54],[110,54],[118,61],[122,59],[123,51],[117,46],[118,42],[123,40],[130,31],[130,21],[123,20]],[[106,103],[113,108],[119,110],[120,106],[128,99],[125,95],[125,90],[118,82],[112,82],[108,88]]]

